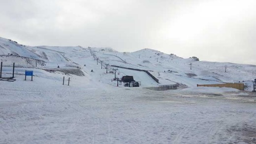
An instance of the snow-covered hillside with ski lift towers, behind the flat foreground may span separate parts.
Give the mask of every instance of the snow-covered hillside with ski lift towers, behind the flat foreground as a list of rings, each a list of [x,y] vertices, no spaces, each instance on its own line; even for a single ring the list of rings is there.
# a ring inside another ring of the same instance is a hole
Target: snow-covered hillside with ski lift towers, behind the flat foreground
[[[133,75],[144,87],[176,83],[196,87],[196,84],[243,82],[247,86],[246,89],[251,91],[252,80],[256,76],[254,65],[198,61],[196,57],[185,59],[148,48],[135,52],[118,52],[112,48],[81,46],[30,47],[4,38],[0,38],[0,60],[5,66],[15,62],[18,67],[35,68],[37,62],[36,68],[40,69],[56,69],[59,66],[60,69],[81,68],[87,73],[93,70],[93,79],[111,84],[109,82],[113,75],[102,76],[105,75],[105,70],[101,70],[100,61],[103,61],[103,69],[109,64],[109,71],[115,68],[111,66],[146,70],[159,79],[157,83],[145,72],[119,68],[117,77]]]

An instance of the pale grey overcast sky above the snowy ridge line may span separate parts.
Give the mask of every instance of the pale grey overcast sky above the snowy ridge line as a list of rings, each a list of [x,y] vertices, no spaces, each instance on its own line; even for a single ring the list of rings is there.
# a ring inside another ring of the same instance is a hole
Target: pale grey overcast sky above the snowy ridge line
[[[256,0],[0,0],[0,37],[256,65]]]

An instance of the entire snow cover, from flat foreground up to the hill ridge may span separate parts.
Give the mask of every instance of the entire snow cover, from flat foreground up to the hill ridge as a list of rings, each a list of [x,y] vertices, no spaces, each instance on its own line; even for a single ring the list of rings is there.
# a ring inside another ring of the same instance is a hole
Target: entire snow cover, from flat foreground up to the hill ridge
[[[16,64],[16,81],[0,81],[0,144],[256,144],[253,65],[153,49],[30,47],[3,38],[0,61],[2,77],[11,77]],[[118,68],[116,77],[133,75],[141,86],[117,87],[111,65],[146,70],[159,83],[146,72]],[[24,80],[25,71],[33,71],[33,81]],[[238,81],[247,91],[196,87]],[[181,87],[148,89],[164,84]]]

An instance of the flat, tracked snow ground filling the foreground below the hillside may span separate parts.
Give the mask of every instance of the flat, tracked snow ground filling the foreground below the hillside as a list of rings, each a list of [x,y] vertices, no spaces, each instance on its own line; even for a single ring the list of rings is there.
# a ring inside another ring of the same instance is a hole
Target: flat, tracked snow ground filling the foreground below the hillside
[[[0,85],[0,144],[255,143],[255,102],[181,90]]]

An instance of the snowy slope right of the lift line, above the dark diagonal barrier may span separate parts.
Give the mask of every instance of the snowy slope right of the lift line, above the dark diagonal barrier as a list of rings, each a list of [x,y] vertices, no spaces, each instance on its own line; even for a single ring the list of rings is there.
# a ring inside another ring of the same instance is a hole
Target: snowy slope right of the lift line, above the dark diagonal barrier
[[[142,49],[131,53],[109,52],[93,48],[91,51],[104,63],[147,70],[159,79],[160,84],[182,83],[193,87],[196,84],[244,81],[251,86],[256,75],[256,66],[254,65],[201,62],[194,58],[184,59],[153,49]]]

